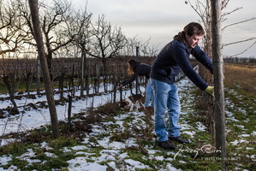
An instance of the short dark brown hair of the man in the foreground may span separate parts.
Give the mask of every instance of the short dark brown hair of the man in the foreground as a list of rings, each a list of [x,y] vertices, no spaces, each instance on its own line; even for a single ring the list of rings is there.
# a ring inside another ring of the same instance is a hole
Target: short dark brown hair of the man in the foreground
[[[187,33],[189,37],[196,34],[198,36],[204,35],[204,28],[197,22],[190,22],[186,27],[184,27],[183,32]]]

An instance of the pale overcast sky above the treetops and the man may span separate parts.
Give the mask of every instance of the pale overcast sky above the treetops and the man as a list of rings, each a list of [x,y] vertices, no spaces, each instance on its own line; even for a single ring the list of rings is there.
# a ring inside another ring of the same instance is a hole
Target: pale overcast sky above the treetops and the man
[[[86,0],[72,2],[76,8],[83,8],[86,5]],[[193,2],[191,0],[191,3]],[[223,12],[230,12],[238,7],[242,9],[227,15],[222,27],[256,17],[255,0],[230,0],[228,8]],[[93,14],[92,20],[97,20],[98,15],[105,15],[105,21],[121,27],[128,38],[138,35],[141,42],[151,38],[150,46],[158,46],[159,50],[189,22],[199,21],[199,15],[185,3],[185,0],[87,0],[87,11]],[[255,26],[256,20],[253,20],[224,29],[223,44],[256,37]],[[254,41],[225,46],[223,56],[238,54]],[[256,56],[256,44],[240,56]]]

